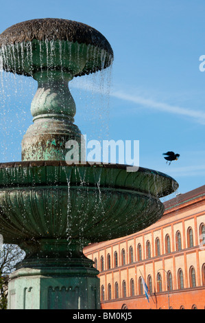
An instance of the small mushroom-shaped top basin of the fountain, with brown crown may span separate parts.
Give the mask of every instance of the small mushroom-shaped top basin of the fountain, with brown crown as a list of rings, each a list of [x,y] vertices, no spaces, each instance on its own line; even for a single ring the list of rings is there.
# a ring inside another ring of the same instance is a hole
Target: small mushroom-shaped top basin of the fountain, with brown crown
[[[60,69],[82,76],[112,63],[107,39],[93,27],[66,19],[33,19],[0,34],[0,56],[5,71],[34,76]]]

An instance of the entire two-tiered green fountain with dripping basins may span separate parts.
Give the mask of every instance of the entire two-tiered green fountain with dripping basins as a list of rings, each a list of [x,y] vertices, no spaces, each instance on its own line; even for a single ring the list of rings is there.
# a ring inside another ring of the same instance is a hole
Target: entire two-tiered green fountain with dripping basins
[[[147,168],[65,161],[68,140],[82,146],[68,82],[113,59],[93,27],[64,19],[17,23],[0,35],[0,56],[5,71],[38,81],[22,161],[0,164],[0,233],[26,254],[10,275],[8,308],[99,309],[99,271],[83,247],[156,222],[160,197],[178,183]]]

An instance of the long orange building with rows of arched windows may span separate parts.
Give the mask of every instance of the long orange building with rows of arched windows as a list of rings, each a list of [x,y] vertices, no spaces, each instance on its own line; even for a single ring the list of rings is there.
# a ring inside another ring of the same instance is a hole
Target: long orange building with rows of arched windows
[[[205,309],[205,185],[164,205],[145,230],[84,248],[99,270],[102,309]]]

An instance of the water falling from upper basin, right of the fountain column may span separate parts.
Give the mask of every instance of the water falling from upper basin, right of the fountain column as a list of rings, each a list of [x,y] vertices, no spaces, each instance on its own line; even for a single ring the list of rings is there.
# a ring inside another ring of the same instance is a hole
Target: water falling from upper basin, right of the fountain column
[[[87,140],[108,140],[111,79],[112,65],[70,82],[78,107],[75,120]]]

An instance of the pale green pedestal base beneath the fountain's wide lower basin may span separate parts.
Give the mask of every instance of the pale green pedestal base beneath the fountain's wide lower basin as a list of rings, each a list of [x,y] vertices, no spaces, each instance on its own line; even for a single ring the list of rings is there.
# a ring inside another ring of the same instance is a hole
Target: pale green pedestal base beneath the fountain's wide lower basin
[[[45,257],[45,245],[52,242],[44,241],[41,257],[29,254],[10,275],[8,309],[99,309],[99,271],[93,261],[78,249],[73,258],[68,253],[62,258],[60,248],[55,258],[51,249]]]

